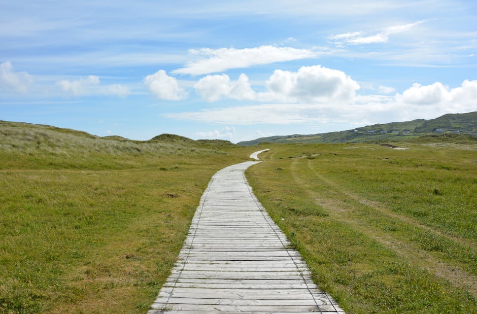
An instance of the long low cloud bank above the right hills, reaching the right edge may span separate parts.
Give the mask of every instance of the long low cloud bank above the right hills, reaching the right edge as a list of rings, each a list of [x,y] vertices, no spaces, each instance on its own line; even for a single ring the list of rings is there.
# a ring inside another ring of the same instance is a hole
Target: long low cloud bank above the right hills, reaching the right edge
[[[320,103],[267,103],[167,114],[165,117],[206,123],[302,124],[323,127],[333,124],[366,124],[431,119],[447,113],[477,110],[477,80],[465,80],[460,87],[448,88],[437,82],[414,84],[402,94],[357,95],[354,99]]]

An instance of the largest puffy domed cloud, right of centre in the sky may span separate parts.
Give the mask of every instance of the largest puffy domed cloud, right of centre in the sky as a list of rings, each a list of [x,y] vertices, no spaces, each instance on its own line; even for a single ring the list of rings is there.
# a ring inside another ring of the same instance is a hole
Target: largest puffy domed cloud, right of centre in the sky
[[[320,65],[302,66],[298,72],[275,70],[266,81],[264,100],[350,101],[359,84],[344,72]]]

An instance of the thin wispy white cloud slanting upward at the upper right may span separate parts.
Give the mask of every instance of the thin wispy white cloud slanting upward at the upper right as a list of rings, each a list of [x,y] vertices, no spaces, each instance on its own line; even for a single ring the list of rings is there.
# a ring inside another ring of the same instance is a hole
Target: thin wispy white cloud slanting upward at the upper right
[[[389,36],[392,34],[397,34],[400,32],[406,32],[413,29],[416,25],[426,22],[417,21],[415,23],[394,25],[384,28],[377,34],[372,34],[369,36],[364,36],[363,31],[348,32],[343,34],[332,35],[328,37],[330,40],[335,41],[336,45],[364,45],[364,44],[375,44],[375,43],[387,43],[389,41]]]

